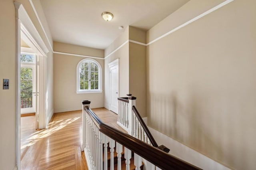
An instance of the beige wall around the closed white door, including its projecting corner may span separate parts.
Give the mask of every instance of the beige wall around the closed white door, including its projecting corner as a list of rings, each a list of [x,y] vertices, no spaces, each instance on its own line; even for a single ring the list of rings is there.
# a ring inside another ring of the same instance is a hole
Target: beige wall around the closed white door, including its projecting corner
[[[127,40],[146,43],[146,32],[128,26],[108,48],[105,56],[120,47]],[[105,107],[109,109],[109,67],[108,64],[119,58],[119,97],[130,93],[137,97],[136,107],[142,117],[146,117],[146,46],[127,42],[105,59]]]

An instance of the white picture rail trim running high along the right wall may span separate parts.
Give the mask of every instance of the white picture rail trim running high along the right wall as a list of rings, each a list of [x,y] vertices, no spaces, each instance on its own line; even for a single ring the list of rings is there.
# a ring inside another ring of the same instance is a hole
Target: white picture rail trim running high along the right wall
[[[182,28],[182,27],[184,27],[184,26],[186,26],[186,25],[188,25],[188,24],[190,24],[190,23],[192,23],[192,22],[194,22],[194,21],[196,21],[196,20],[202,18],[203,16],[206,16],[207,14],[210,14],[211,12],[214,12],[215,10],[218,10],[218,9],[221,8],[222,6],[225,6],[226,4],[229,4],[229,3],[232,2],[232,1],[234,1],[234,0],[226,0],[226,1],[222,2],[221,4],[218,4],[217,6],[213,7],[212,9],[210,9],[210,10],[208,10],[208,11],[206,11],[206,12],[200,14],[199,16],[196,16],[195,18],[189,20],[188,22],[185,22],[184,24],[182,24],[182,25],[180,25],[180,26],[174,28],[173,30],[170,30],[170,31],[167,32],[166,34],[164,34],[164,35],[162,35],[162,36],[156,38],[155,40],[152,40],[151,42],[147,43],[146,45],[150,45],[150,44],[152,44],[152,43],[154,43],[154,42],[156,42],[156,41],[158,41],[158,40],[160,40],[160,39],[162,39],[162,38],[168,36],[169,34],[171,34],[171,33],[175,32],[175,31],[179,30],[180,28]]]

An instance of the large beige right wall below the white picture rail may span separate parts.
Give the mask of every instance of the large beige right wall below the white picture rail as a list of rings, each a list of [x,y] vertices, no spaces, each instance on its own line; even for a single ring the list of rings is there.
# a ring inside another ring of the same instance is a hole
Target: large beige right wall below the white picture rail
[[[148,125],[235,169],[256,166],[255,6],[235,0],[147,47]]]

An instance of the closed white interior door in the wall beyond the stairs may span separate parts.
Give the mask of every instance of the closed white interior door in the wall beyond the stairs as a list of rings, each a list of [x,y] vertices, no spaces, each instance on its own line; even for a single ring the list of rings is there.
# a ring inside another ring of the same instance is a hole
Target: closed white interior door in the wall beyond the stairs
[[[118,81],[118,63],[111,65],[110,70],[110,110],[118,114],[118,97],[119,97],[119,81]]]

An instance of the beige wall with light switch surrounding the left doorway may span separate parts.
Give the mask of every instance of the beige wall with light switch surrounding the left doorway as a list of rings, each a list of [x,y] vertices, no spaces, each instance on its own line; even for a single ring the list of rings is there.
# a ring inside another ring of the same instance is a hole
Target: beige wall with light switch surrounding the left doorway
[[[46,43],[46,37],[28,0],[16,0],[22,3],[30,19]],[[10,79],[10,89],[0,88],[0,166],[12,170],[16,166],[16,9],[13,0],[0,1],[0,80]],[[39,6],[36,7],[36,9]],[[49,48],[50,49],[50,48]],[[47,79],[51,79],[52,53],[48,53]],[[52,81],[50,81],[52,82]],[[48,110],[52,110],[52,83],[47,84]]]

